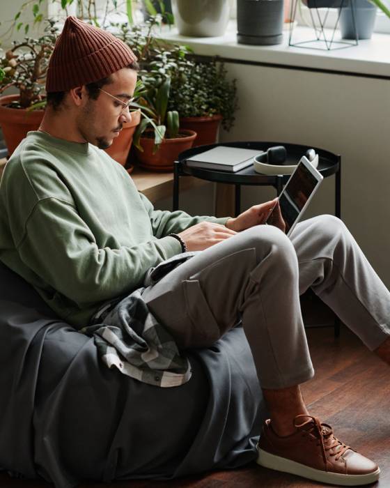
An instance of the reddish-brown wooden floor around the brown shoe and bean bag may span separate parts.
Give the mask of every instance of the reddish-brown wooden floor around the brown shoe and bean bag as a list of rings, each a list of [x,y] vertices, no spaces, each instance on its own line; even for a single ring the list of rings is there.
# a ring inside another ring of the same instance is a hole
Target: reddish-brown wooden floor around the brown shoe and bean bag
[[[310,411],[335,429],[336,436],[381,467],[378,488],[390,487],[390,368],[342,328],[334,339],[331,328],[308,330],[316,370],[303,386]],[[256,464],[235,471],[217,471],[173,482],[127,481],[83,483],[80,488],[302,488],[315,484],[276,473]],[[0,488],[49,488],[42,482],[11,480],[0,474]]]

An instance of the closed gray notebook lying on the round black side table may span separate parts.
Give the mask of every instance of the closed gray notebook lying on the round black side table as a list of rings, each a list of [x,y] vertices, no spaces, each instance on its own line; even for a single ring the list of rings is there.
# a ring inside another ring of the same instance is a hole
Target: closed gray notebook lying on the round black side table
[[[217,146],[187,158],[187,166],[235,173],[252,165],[253,157],[263,152],[259,149]]]

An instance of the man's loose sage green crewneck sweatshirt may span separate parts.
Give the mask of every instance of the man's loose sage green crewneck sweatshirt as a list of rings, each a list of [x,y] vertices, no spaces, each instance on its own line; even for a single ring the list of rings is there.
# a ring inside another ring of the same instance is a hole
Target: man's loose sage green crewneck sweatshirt
[[[1,179],[0,260],[81,328],[104,301],[142,286],[150,267],[181,252],[167,234],[203,220],[227,218],[156,211],[104,151],[29,132]]]

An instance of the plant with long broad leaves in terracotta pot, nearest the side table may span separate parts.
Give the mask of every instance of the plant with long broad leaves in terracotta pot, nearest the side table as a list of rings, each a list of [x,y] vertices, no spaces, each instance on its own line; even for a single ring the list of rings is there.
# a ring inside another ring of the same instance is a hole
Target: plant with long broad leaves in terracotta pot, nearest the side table
[[[179,129],[179,114],[168,111],[171,79],[150,86],[139,98],[143,120],[134,135],[134,146],[141,167],[172,171],[178,155],[189,149],[196,138],[193,130]]]

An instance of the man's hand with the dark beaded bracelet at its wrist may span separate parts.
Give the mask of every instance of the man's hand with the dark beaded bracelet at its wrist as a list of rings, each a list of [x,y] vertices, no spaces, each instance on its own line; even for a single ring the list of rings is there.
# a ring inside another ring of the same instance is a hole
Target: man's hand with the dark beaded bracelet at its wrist
[[[200,222],[180,232],[178,236],[187,245],[187,250],[203,251],[231,236],[235,236],[235,234],[237,232],[228,229],[224,225],[214,224],[212,222]]]

